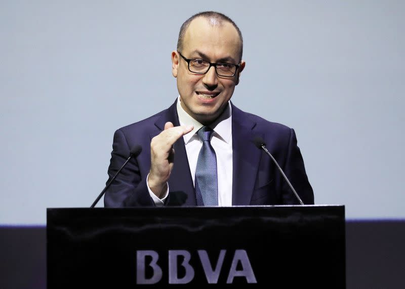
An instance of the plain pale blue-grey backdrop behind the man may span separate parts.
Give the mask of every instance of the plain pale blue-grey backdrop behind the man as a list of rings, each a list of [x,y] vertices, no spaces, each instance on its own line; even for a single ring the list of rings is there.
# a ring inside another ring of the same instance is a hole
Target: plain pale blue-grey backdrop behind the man
[[[296,130],[317,204],[402,219],[405,2],[0,1],[0,224],[89,207],[114,131],[177,96],[182,22],[215,10],[240,27],[232,101]],[[99,205],[102,204],[100,201]]]

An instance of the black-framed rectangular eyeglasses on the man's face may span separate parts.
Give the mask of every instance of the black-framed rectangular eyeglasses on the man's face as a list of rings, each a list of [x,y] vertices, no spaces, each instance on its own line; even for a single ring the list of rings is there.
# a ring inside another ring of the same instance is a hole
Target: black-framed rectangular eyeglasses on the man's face
[[[218,76],[232,77],[235,75],[239,65],[231,63],[211,63],[203,59],[187,59],[180,52],[180,56],[187,62],[188,70],[192,73],[206,74],[211,66],[215,67]]]

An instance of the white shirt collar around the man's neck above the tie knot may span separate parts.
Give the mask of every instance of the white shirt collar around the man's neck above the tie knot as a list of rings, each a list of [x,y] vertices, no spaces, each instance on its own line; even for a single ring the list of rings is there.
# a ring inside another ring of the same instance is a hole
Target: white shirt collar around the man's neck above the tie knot
[[[179,116],[179,122],[181,126],[192,125],[194,129],[188,134],[183,136],[184,143],[187,144],[195,133],[202,127],[203,124],[192,118],[181,106],[180,96],[177,99],[177,114]],[[219,139],[222,139],[224,142],[229,143],[232,136],[232,108],[228,101],[228,105],[225,108],[225,111],[209,126]]]

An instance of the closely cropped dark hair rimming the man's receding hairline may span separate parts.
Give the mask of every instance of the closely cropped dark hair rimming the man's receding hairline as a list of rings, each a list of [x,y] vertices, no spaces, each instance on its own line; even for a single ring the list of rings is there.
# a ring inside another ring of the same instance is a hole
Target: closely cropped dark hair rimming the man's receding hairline
[[[232,26],[235,28],[238,36],[239,36],[239,61],[242,59],[242,53],[243,53],[243,38],[242,38],[242,33],[239,30],[239,27],[235,24],[235,22],[232,21],[228,16],[218,13],[218,12],[213,12],[213,11],[208,11],[208,12],[200,12],[197,13],[190,18],[188,18],[183,25],[181,25],[180,32],[179,32],[179,38],[177,40],[177,51],[182,51],[183,50],[183,42],[185,39],[185,35],[187,32],[187,29],[190,26],[190,23],[196,19],[196,18],[205,18],[211,26],[215,27],[222,27],[224,25],[224,22],[232,24]]]

